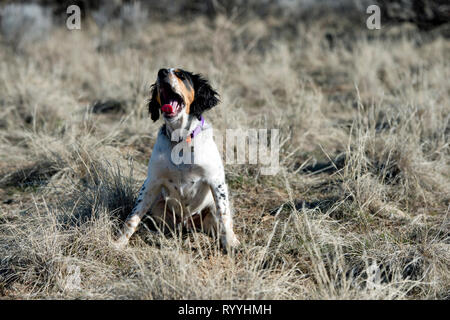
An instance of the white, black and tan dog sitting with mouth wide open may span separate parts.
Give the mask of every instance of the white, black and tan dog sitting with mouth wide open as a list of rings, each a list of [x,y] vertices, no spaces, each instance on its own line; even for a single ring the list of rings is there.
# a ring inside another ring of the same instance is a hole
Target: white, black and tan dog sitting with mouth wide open
[[[173,68],[158,71],[148,109],[154,122],[162,114],[164,125],[153,147],[147,179],[117,240],[119,246],[128,243],[148,211],[164,230],[179,226],[201,230],[218,236],[226,249],[240,244],[233,231],[222,158],[213,129],[203,118],[218,103],[218,93],[202,75]]]

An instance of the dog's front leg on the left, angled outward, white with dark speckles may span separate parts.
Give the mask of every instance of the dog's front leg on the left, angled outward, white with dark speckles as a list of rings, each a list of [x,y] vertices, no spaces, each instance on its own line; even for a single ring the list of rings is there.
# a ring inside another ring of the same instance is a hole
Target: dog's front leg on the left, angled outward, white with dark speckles
[[[125,220],[121,235],[116,243],[118,246],[123,247],[128,243],[128,240],[130,240],[130,237],[136,231],[142,217],[155,202],[160,191],[161,185],[157,183],[157,181],[150,179],[145,180],[141,190],[139,191],[136,205]]]

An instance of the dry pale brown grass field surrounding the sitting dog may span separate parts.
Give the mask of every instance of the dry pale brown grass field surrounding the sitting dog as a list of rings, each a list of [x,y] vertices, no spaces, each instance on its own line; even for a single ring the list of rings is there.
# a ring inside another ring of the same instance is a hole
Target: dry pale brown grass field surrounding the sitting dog
[[[277,175],[225,166],[234,254],[148,223],[112,244],[161,67],[210,79],[216,131],[280,129]],[[412,25],[219,15],[2,41],[0,299],[448,299],[449,79],[448,38]]]

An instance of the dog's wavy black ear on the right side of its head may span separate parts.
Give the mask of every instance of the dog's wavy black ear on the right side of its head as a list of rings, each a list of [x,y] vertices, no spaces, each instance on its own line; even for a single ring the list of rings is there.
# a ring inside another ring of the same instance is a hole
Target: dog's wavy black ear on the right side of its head
[[[193,74],[191,76],[192,83],[194,84],[194,101],[190,106],[190,114],[200,119],[200,116],[206,110],[216,106],[220,100],[219,94],[211,87],[208,80],[203,78],[200,74]]]

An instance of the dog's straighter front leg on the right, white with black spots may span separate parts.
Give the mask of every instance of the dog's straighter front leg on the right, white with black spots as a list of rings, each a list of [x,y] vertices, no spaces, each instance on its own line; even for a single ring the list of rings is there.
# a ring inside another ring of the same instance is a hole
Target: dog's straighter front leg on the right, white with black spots
[[[210,187],[216,204],[214,216],[219,225],[220,241],[225,248],[237,247],[240,243],[233,231],[233,217],[225,179],[210,183]]]

